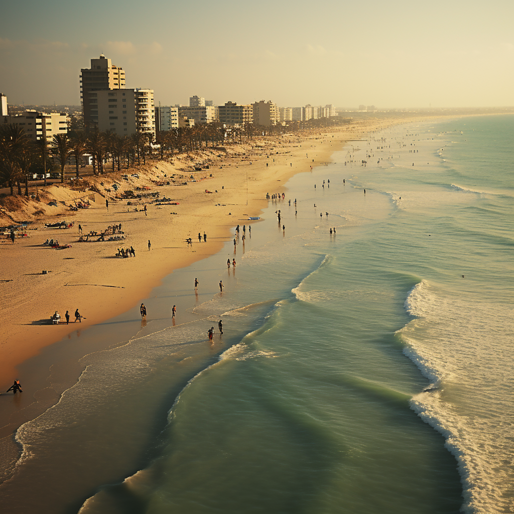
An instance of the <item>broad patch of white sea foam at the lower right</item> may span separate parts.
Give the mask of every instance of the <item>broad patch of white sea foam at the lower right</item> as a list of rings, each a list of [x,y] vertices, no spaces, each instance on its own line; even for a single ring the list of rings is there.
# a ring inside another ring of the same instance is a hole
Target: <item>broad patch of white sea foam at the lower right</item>
[[[426,281],[405,306],[416,319],[398,331],[404,353],[433,382],[413,397],[412,409],[446,437],[464,482],[465,511],[512,512],[514,468],[505,461],[514,426],[512,333],[505,333],[512,307],[448,297]]]

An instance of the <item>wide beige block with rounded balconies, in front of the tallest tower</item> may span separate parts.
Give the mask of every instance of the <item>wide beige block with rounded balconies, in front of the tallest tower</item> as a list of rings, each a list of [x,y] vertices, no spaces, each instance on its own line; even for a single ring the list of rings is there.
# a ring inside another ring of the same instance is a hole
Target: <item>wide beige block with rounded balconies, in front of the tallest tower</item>
[[[88,97],[100,131],[120,136],[141,132],[155,137],[153,89],[90,91]]]

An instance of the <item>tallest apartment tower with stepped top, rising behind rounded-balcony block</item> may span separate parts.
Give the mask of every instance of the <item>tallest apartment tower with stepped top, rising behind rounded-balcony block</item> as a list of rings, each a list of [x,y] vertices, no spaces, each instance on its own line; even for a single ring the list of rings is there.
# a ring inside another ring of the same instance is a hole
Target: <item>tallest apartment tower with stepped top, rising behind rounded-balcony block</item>
[[[98,59],[91,59],[91,68],[80,70],[80,103],[84,113],[84,126],[87,128],[98,125],[98,107],[90,105],[90,91],[124,88],[123,68],[115,66],[103,53]]]

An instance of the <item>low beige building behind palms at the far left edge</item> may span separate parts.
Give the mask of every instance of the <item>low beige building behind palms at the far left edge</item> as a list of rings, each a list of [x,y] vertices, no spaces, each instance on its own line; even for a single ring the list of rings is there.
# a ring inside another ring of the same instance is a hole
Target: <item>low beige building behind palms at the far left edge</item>
[[[68,133],[68,121],[69,118],[64,113],[41,113],[35,109],[0,118],[2,123],[11,123],[23,128],[31,141],[45,139],[47,143],[55,134]]]

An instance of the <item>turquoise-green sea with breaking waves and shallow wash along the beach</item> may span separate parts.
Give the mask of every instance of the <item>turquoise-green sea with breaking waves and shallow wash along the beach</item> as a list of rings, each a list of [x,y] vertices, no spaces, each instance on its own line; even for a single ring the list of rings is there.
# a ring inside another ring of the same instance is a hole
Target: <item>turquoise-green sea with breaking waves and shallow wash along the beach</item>
[[[7,511],[514,512],[513,142],[511,115],[406,123],[277,182],[17,431]]]

